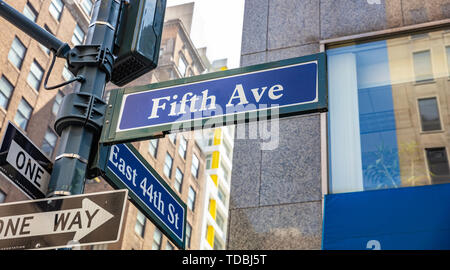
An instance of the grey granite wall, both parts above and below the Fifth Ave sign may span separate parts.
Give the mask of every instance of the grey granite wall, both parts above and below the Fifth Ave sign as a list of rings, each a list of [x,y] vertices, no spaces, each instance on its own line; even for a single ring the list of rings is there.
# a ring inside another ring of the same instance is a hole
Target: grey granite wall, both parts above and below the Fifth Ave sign
[[[320,40],[449,17],[450,0],[246,0],[241,66],[317,53]],[[237,126],[228,249],[321,248],[320,119],[279,120],[272,150],[262,146],[260,123]]]

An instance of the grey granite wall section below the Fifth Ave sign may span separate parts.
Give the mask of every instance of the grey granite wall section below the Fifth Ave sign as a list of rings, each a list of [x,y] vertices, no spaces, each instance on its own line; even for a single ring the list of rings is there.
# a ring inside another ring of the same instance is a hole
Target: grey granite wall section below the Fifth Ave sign
[[[265,124],[279,128],[270,138],[274,150],[264,150],[268,136],[235,139],[227,248],[320,249],[320,115],[280,119],[275,127],[242,124],[236,132],[251,138]]]

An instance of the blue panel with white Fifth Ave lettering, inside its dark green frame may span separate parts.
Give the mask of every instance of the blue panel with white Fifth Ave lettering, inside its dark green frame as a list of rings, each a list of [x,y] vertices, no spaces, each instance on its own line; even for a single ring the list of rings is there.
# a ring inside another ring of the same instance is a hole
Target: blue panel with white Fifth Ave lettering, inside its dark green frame
[[[280,107],[317,99],[317,62],[302,63],[125,95],[118,131],[197,119],[213,115],[218,108],[222,113],[234,114],[258,108],[249,104]],[[226,112],[228,108],[231,110]]]

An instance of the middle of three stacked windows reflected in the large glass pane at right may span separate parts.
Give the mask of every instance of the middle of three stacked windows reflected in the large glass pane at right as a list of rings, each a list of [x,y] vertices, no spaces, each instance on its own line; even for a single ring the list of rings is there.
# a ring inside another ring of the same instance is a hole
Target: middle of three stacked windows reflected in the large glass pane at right
[[[419,99],[418,102],[422,131],[441,130],[441,120],[436,98]]]

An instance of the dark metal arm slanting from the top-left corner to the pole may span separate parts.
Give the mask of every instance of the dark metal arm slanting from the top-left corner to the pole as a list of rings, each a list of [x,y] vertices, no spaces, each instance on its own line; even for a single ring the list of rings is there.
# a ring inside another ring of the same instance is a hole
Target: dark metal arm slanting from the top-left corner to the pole
[[[0,16],[8,20],[14,26],[25,32],[50,50],[57,53],[58,57],[65,57],[70,47],[44,28],[40,27],[22,13],[0,0]]]

